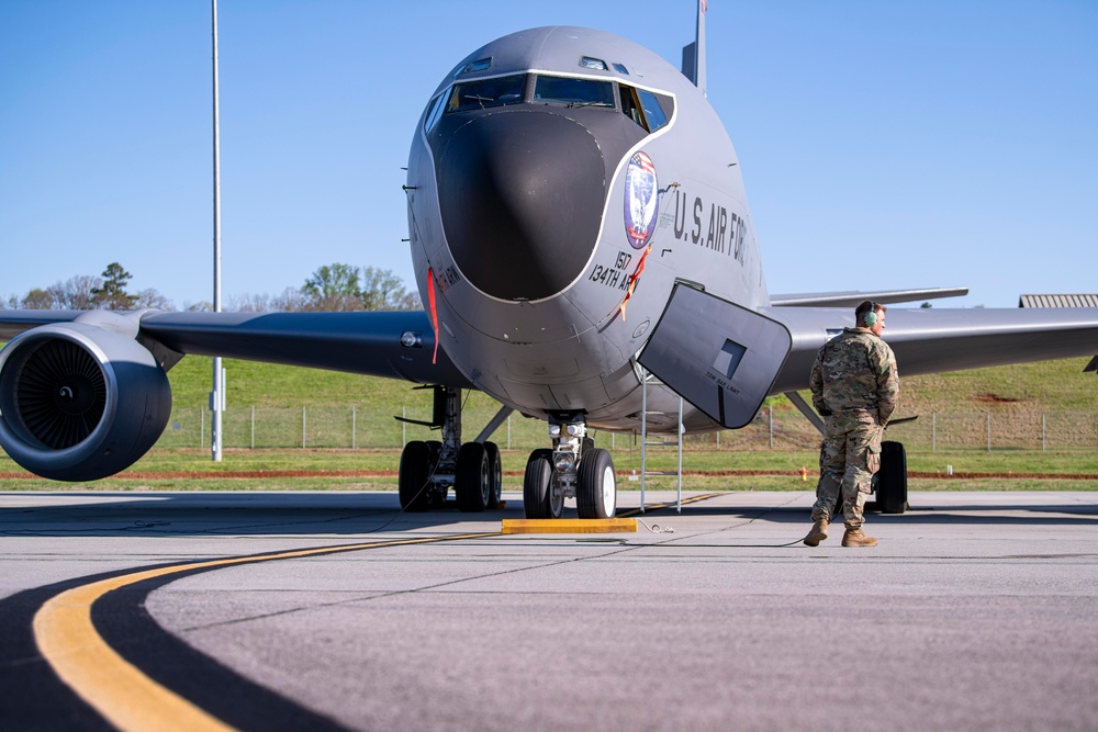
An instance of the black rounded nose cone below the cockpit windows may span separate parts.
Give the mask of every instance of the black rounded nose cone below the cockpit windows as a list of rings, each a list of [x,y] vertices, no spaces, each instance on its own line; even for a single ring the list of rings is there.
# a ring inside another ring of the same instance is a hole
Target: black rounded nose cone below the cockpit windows
[[[486,114],[455,129],[439,158],[446,240],[471,284],[501,300],[540,300],[580,275],[606,188],[585,127],[546,112]]]

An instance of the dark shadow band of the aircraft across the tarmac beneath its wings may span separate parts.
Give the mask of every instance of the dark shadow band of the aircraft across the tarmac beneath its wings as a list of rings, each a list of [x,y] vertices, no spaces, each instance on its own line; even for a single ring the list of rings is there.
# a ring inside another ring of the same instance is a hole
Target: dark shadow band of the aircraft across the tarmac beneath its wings
[[[464,530],[478,532],[495,530],[497,521],[504,518],[524,516],[522,500],[514,498],[508,499],[502,510],[480,514],[462,514],[453,508],[402,513],[396,494],[386,493],[58,493],[22,498],[20,494],[7,494],[0,500],[0,537],[356,536],[442,527],[451,530],[468,527]],[[57,504],[49,505],[54,499]],[[903,515],[871,514],[871,520],[916,525],[1098,525],[1098,504],[932,506],[926,503]],[[565,505],[565,518],[573,516],[574,510]],[[673,510],[673,505],[663,509],[648,508],[638,516],[666,516]],[[809,520],[804,506],[720,506],[705,502],[684,506],[682,515],[684,518],[765,518],[776,523]]]

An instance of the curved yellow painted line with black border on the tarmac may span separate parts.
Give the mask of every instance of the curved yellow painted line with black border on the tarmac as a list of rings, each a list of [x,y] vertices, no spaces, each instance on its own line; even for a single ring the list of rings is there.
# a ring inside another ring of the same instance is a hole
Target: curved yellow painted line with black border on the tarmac
[[[34,616],[34,639],[42,655],[65,684],[120,730],[232,730],[232,727],[150,679],[109,646],[91,621],[91,606],[96,600],[112,590],[145,579],[201,568],[496,536],[500,534],[395,539],[144,570],[74,587],[54,596]]]

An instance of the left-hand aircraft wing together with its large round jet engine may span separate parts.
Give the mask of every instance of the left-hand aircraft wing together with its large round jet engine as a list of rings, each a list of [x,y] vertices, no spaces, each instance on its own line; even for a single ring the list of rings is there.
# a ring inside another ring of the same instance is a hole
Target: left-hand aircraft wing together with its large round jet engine
[[[171,416],[187,353],[471,386],[419,313],[0,311],[0,446],[26,470],[94,481],[124,470]]]

